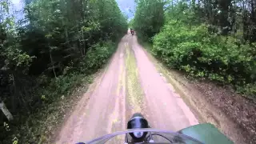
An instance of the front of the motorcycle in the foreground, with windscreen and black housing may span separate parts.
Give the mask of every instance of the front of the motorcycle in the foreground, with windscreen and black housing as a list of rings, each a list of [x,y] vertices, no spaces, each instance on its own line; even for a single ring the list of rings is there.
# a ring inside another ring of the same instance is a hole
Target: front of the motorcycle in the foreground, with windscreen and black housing
[[[142,114],[134,114],[127,123],[127,130],[116,132],[114,134],[107,134],[101,138],[96,138],[86,144],[100,144],[100,143],[120,143],[120,135],[124,135],[121,143],[124,144],[146,144],[146,143],[172,143],[172,144],[202,144],[202,143],[218,143],[231,144],[234,143],[226,138],[213,125],[198,124],[190,126],[178,132],[168,130],[155,130],[150,128],[149,123]],[[116,138],[117,140],[115,140]],[[124,141],[124,142],[123,142]],[[79,142],[77,144],[85,144]]]

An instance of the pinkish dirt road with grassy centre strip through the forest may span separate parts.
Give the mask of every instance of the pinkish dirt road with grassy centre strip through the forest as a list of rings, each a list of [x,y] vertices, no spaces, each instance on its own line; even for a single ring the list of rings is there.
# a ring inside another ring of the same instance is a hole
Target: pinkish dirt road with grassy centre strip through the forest
[[[150,126],[162,130],[175,131],[198,124],[173,86],[147,58],[137,38],[127,34],[54,143],[86,142],[125,130],[127,120],[135,112],[142,113]]]

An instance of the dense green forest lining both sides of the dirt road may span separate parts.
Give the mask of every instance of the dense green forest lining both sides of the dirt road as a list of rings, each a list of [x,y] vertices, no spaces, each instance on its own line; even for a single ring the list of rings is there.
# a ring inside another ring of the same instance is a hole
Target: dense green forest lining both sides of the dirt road
[[[50,107],[127,31],[115,0],[0,0],[0,143],[43,143]],[[130,25],[169,68],[256,99],[256,0],[135,0]],[[62,114],[58,114],[58,118]]]

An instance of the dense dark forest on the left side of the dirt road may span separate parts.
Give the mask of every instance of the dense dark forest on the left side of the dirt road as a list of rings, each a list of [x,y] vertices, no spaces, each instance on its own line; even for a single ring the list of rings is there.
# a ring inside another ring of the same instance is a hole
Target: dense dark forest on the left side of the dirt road
[[[127,30],[115,0],[22,2],[17,18],[0,0],[0,143],[42,143],[47,106],[106,63]]]

